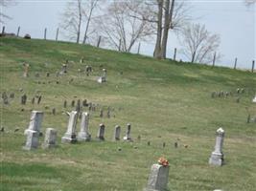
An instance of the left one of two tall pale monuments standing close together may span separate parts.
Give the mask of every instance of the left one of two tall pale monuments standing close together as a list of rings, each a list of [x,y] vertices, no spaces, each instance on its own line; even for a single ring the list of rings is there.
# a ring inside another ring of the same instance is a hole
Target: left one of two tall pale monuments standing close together
[[[77,120],[78,120],[78,112],[72,111],[69,115],[69,121],[67,125],[67,132],[65,135],[61,138],[61,142],[69,142],[73,143],[77,141],[76,136],[76,126],[77,126]]]

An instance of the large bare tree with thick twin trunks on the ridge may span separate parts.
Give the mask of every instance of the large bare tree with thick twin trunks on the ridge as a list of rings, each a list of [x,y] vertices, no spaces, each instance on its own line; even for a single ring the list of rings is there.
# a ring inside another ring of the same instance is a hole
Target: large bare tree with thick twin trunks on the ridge
[[[190,20],[188,7],[186,7],[188,4],[175,0],[140,0],[140,2],[143,3],[137,9],[141,18],[150,22],[155,29],[156,41],[153,56],[166,58],[170,30],[179,31]]]

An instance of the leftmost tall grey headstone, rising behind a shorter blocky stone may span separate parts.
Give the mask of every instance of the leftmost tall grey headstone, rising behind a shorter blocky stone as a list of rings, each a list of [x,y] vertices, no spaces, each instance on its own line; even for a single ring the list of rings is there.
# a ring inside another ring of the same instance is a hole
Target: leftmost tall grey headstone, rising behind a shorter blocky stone
[[[28,129],[25,130],[24,135],[27,135],[29,131],[35,131],[39,136],[42,119],[43,119],[43,112],[32,111],[30,125]]]

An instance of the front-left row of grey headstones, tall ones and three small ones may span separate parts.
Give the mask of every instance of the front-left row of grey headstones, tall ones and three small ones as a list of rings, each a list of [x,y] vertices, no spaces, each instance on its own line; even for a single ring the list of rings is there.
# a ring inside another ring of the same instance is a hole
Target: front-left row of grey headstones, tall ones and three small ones
[[[37,148],[38,146],[38,137],[40,133],[41,122],[43,118],[43,112],[33,111],[31,116],[31,121],[28,129],[25,130],[24,134],[27,136],[26,144],[23,147],[25,150],[31,150]],[[61,138],[61,142],[77,142],[77,141],[89,141],[91,140],[91,135],[88,132],[89,129],[89,114],[83,112],[81,114],[81,131],[76,134],[76,126],[78,120],[78,112],[72,111],[69,113],[69,121],[67,126],[67,131],[64,136]],[[128,129],[124,140],[131,141],[130,138],[131,125],[128,123]],[[121,127],[119,125],[115,126],[113,140],[120,140]],[[57,131],[53,128],[47,128],[45,134],[45,140],[43,143],[44,148],[51,148],[56,145]],[[96,139],[105,140],[105,125],[100,124],[99,131]]]

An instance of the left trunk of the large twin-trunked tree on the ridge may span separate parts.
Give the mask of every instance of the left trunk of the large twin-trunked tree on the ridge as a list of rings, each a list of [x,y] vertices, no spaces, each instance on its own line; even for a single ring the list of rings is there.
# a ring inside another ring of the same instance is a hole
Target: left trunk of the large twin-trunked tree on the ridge
[[[157,14],[157,34],[156,43],[153,51],[153,57],[161,58],[161,39],[162,39],[162,18],[163,18],[163,0],[157,0],[158,14]]]

